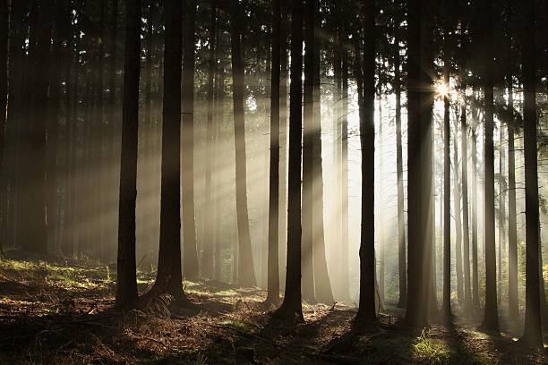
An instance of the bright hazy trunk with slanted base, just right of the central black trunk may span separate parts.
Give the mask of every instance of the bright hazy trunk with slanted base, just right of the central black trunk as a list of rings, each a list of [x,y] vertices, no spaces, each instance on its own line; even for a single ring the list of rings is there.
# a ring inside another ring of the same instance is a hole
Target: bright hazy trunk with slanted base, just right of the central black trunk
[[[316,16],[318,16],[316,10]],[[321,160],[321,89],[320,89],[320,26],[314,27],[314,115],[313,115],[313,266],[316,299],[323,303],[333,302],[330,274],[325,256],[323,229],[323,166]]]

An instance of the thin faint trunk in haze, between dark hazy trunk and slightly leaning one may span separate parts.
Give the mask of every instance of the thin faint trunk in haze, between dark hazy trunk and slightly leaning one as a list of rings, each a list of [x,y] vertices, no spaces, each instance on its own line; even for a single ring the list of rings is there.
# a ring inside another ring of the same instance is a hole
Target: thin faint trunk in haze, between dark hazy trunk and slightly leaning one
[[[213,149],[214,149],[214,99],[215,99],[215,89],[214,89],[214,78],[215,70],[217,68],[217,57],[216,57],[216,38],[217,38],[217,0],[211,0],[210,2],[210,34],[208,39],[208,115],[207,115],[207,124],[206,124],[206,174],[205,174],[205,211],[211,212],[213,202],[212,202],[212,169],[213,169]],[[204,277],[211,277],[213,274],[213,248],[214,248],[214,235],[215,235],[215,225],[211,225],[213,219],[210,219],[209,216],[204,217],[204,220],[207,222],[207,227],[204,230],[204,242],[203,242],[203,259],[201,266],[201,275]]]

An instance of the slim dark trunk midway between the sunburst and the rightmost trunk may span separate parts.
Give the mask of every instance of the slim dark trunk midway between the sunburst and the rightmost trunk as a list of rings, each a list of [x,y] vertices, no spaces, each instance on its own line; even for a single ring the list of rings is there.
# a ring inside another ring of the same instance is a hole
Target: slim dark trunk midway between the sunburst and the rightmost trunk
[[[492,80],[492,0],[484,0],[484,199],[485,199],[485,313],[482,328],[499,330],[497,306],[497,262],[494,236],[494,145],[493,80]]]

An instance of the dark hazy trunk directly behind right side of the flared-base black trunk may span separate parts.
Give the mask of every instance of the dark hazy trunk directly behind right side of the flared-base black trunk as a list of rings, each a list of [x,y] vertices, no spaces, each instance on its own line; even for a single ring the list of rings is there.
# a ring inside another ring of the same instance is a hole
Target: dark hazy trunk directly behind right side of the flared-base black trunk
[[[199,276],[194,219],[194,54],[195,54],[195,0],[186,2],[183,59],[183,257],[184,277]]]

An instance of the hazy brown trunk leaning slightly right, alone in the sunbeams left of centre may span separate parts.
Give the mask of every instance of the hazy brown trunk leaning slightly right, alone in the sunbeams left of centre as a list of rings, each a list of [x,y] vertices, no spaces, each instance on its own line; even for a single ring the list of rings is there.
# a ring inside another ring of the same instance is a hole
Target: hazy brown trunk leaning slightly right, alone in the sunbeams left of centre
[[[242,19],[239,0],[231,3],[232,93],[234,104],[236,220],[238,229],[238,283],[255,286],[255,270],[247,211],[247,159],[245,154],[244,61],[242,59]],[[300,93],[299,93],[300,94]],[[300,165],[300,164],[299,164]]]

